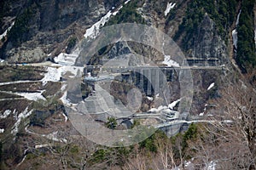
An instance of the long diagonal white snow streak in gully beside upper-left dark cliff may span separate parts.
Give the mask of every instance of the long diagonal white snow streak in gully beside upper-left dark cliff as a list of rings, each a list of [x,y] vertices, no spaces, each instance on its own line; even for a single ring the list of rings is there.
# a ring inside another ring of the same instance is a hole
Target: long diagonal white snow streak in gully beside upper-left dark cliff
[[[105,14],[101,20],[97,21],[93,26],[91,26],[89,29],[86,30],[84,37],[90,37],[90,38],[96,38],[96,36],[99,33],[99,30],[102,26],[108,22],[109,17],[111,16],[111,11],[108,11],[108,14]]]

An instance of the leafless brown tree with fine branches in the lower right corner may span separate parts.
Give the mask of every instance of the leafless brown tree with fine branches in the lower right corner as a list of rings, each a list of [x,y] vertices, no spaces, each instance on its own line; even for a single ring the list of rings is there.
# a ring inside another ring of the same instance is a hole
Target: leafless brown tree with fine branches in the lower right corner
[[[200,165],[215,161],[221,169],[256,168],[256,93],[245,82],[220,89],[212,122],[201,128],[201,137],[189,147]]]

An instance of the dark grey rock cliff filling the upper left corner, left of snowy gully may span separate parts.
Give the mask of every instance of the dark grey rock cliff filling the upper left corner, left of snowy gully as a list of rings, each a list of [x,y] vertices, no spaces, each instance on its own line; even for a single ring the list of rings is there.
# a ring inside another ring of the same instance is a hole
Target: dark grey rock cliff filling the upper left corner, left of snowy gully
[[[6,14],[3,18],[10,16],[16,18],[8,40],[2,47],[0,46],[0,57],[9,59],[9,62],[37,62],[44,60],[49,54],[54,56],[63,50],[66,52],[64,48],[68,45],[68,39],[83,37],[88,26],[120,3],[123,2],[20,1],[22,6],[15,5],[15,2],[10,2],[9,5],[6,3],[5,6],[14,8],[15,11]],[[0,24],[2,30],[9,26],[9,23]]]

